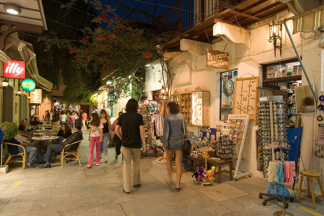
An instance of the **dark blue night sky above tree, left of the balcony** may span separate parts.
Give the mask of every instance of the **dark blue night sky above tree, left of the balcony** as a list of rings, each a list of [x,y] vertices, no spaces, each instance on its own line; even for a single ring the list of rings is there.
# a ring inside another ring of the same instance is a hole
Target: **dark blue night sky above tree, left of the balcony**
[[[100,1],[103,4],[116,7],[119,0],[100,0]],[[131,8],[136,8],[140,4],[137,10],[144,10],[152,15],[156,14],[157,17],[168,8],[165,6],[171,6],[174,2],[176,2],[176,0],[143,0],[142,3],[141,1],[142,0],[120,0],[120,3],[123,4],[124,6],[131,7]],[[147,4],[147,3],[151,3],[151,4]],[[158,4],[163,6],[155,6],[153,4]],[[130,13],[131,13],[130,11],[123,10],[120,6],[116,8],[116,14],[118,14],[120,18],[126,18]],[[141,22],[148,22],[147,16],[138,14],[137,12],[133,12],[127,19],[130,20],[137,19]]]

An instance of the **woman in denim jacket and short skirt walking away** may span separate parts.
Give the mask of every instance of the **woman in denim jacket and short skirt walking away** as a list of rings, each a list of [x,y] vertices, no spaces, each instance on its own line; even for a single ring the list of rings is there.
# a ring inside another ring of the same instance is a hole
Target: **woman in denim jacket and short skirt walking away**
[[[185,139],[186,123],[184,117],[179,113],[179,105],[176,102],[169,102],[167,105],[167,115],[164,119],[163,128],[163,149],[167,152],[167,167],[169,177],[166,179],[168,185],[174,181],[171,179],[172,155],[175,153],[175,161],[177,166],[177,186],[176,190],[180,190],[180,179],[182,175],[182,157],[183,144]]]

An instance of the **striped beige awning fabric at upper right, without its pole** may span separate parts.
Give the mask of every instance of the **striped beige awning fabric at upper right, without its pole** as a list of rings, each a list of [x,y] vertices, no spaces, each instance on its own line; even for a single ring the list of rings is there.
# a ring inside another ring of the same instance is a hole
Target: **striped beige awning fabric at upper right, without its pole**
[[[300,31],[313,32],[324,25],[324,5],[288,18],[288,20],[289,19],[294,22],[293,34]]]

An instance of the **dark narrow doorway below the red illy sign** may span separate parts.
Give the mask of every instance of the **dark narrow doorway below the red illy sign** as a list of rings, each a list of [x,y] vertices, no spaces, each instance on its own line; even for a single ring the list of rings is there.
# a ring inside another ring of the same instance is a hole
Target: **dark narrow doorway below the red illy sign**
[[[3,121],[13,122],[13,104],[14,104],[14,88],[8,86],[3,89]]]

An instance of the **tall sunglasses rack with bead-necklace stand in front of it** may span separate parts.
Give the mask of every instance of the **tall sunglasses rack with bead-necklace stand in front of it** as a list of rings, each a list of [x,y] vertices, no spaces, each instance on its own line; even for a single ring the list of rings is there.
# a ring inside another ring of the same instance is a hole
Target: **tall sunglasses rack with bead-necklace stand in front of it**
[[[269,197],[262,202],[264,206],[267,201],[273,199],[283,201],[283,210],[275,212],[274,215],[291,215],[285,211],[288,208],[285,199],[293,202],[294,197],[284,197],[284,181],[289,184],[293,183],[295,162],[288,161],[290,147],[287,141],[286,108],[282,96],[260,97],[257,115],[262,150],[261,171],[268,181],[274,182],[274,194],[259,193],[259,198],[261,199],[263,196]],[[283,197],[277,195],[278,184],[283,188]]]

